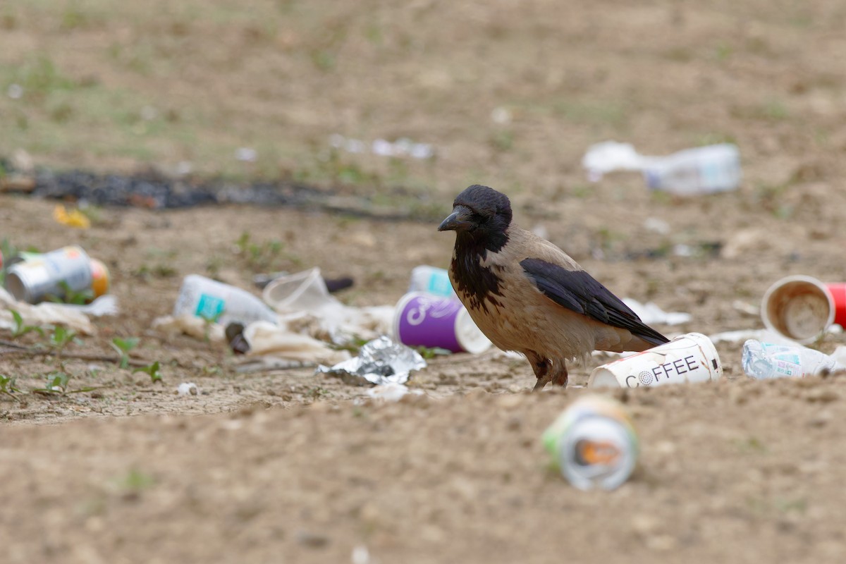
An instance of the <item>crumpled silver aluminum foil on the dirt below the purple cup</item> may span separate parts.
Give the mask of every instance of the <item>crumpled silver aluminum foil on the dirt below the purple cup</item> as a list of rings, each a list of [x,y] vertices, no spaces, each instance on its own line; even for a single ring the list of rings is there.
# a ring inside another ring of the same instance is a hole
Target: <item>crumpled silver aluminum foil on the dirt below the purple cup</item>
[[[338,376],[345,384],[369,386],[404,384],[411,370],[426,368],[426,360],[413,348],[395,343],[388,337],[367,342],[359,356],[344,360],[331,368],[319,365],[316,372]]]

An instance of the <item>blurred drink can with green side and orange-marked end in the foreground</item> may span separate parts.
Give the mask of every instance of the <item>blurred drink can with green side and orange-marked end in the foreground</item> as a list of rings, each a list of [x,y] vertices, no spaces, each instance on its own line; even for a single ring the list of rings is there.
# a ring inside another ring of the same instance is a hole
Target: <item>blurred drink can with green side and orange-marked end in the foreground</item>
[[[581,397],[542,436],[547,452],[580,490],[614,490],[629,479],[639,454],[637,433],[611,397]]]

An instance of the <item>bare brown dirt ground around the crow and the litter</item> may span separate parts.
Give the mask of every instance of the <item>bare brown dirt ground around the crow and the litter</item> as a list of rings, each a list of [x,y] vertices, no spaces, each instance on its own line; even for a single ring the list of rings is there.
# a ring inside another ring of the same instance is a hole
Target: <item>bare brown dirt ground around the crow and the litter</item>
[[[589,393],[602,357],[539,394],[523,360],[438,357],[409,382],[420,394],[391,403],[310,368],[239,373],[225,347],[151,327],[191,273],[255,291],[256,273],[319,266],[354,279],[345,304],[394,304],[414,266],[448,265],[453,234],[433,217],[487,183],[618,296],[692,315],[659,331],[761,328],[755,309],[778,278],[846,281],[842,3],[152,4],[0,7],[0,112],[14,118],[0,120],[0,156],[102,172],[190,161],[411,218],[102,208],[76,230],[53,221],[55,201],[0,194],[0,238],[80,244],[109,267],[120,308],[63,359],[0,347],[18,390],[0,394],[3,561],[846,559],[846,381],[751,380],[741,342],[717,344],[722,381],[607,392],[632,413],[640,466],[618,490],[585,493],[550,468],[540,436]],[[80,90],[10,98],[33,49]],[[136,101],[180,118],[143,134],[108,121],[110,103]],[[437,156],[332,152],[336,133],[408,136]],[[690,199],[650,193],[636,173],[589,184],[580,157],[607,139],[646,154],[732,141],[744,181]],[[251,144],[255,166],[234,162]],[[108,360],[115,337],[138,337],[132,359],[158,361],[162,381]],[[0,339],[49,349],[35,332]],[[34,392],[56,371],[67,393]],[[177,395],[183,382],[200,393]]]

